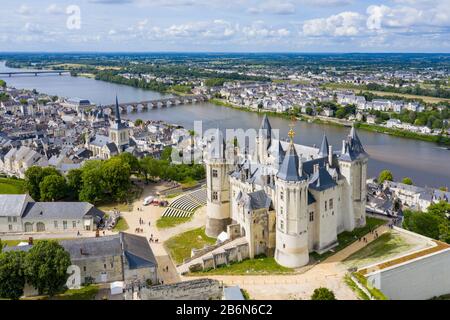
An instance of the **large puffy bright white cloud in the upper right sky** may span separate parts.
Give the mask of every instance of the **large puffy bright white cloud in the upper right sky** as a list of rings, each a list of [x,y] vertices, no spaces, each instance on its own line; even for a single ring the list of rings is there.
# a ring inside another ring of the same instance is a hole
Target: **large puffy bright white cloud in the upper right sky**
[[[303,24],[305,36],[356,36],[363,31],[364,16],[357,12],[345,11],[328,18],[307,20]]]

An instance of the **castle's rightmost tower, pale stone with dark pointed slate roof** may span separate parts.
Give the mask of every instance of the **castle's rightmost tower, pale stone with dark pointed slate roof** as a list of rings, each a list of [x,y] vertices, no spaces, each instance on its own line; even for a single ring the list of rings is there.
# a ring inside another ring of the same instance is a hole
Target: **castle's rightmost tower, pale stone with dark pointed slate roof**
[[[340,172],[346,180],[341,204],[341,212],[346,213],[343,217],[346,231],[366,224],[368,158],[355,128],[352,127],[348,137],[342,141],[342,153],[339,157]]]

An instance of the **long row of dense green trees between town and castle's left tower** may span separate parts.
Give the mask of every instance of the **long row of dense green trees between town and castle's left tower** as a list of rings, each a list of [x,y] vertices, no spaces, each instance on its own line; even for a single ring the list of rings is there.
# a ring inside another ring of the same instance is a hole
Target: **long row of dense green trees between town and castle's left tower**
[[[30,196],[40,201],[65,199],[98,204],[104,201],[126,201],[130,196],[131,177],[146,182],[161,178],[190,182],[205,178],[203,165],[171,164],[171,149],[164,150],[161,160],[137,159],[122,153],[108,160],[90,160],[80,169],[61,175],[52,167],[31,167],[25,172],[25,186]]]

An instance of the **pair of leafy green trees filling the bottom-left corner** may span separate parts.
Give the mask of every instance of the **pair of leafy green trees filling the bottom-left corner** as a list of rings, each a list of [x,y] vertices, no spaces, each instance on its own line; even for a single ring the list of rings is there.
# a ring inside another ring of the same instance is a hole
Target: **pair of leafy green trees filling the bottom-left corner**
[[[37,242],[28,252],[1,252],[0,297],[19,299],[26,284],[53,296],[63,290],[70,265],[69,253],[56,241]]]

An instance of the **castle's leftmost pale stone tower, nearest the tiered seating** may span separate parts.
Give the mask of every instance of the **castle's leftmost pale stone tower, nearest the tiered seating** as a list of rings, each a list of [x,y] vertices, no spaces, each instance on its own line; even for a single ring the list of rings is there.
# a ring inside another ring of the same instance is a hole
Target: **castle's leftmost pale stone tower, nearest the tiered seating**
[[[217,135],[209,148],[205,159],[207,181],[206,203],[206,235],[216,238],[222,231],[226,231],[231,223],[230,218],[230,182],[228,173],[232,164],[227,162],[226,143]],[[221,142],[221,143],[219,143]]]

